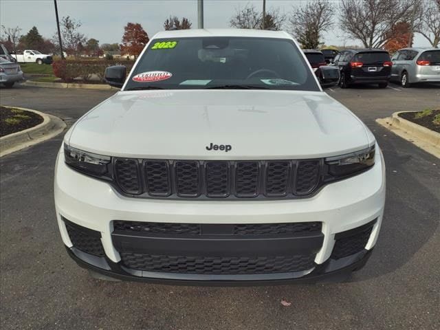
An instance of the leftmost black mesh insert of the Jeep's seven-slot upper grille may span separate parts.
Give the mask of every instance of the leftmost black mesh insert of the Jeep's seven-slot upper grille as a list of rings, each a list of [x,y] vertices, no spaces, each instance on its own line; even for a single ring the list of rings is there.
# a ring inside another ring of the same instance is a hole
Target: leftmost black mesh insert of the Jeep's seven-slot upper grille
[[[128,194],[140,194],[140,180],[135,159],[116,159],[115,177],[120,188]]]

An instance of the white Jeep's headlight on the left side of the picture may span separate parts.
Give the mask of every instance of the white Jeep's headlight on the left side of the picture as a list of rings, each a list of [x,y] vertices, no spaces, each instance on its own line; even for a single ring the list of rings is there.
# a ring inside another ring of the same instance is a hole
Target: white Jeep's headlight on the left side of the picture
[[[96,155],[64,144],[64,159],[67,165],[88,175],[109,177],[111,157]]]

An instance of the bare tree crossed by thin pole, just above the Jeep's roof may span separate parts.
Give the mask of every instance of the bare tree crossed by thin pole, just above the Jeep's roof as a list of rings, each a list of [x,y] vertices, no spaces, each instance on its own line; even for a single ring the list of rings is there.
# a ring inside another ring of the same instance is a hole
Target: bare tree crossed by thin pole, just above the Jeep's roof
[[[279,8],[269,10],[265,13],[265,29],[281,30],[285,19],[285,14],[281,14]],[[230,19],[230,26],[239,29],[262,29],[263,13],[248,3],[243,9],[236,8],[234,16]]]

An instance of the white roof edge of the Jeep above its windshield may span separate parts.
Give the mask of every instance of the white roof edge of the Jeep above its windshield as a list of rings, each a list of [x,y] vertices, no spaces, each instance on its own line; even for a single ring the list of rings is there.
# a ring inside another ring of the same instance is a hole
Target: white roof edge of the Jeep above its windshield
[[[187,38],[191,36],[244,36],[260,38],[292,39],[284,31],[250,30],[250,29],[189,29],[160,31],[153,38]]]

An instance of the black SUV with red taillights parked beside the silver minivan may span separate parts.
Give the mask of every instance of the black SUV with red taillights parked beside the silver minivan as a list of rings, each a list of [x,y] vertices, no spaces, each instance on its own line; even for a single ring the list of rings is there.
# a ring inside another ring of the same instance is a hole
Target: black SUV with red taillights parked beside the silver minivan
[[[341,88],[353,84],[377,84],[385,88],[391,78],[390,54],[386,50],[342,50],[333,61],[340,69]]]

